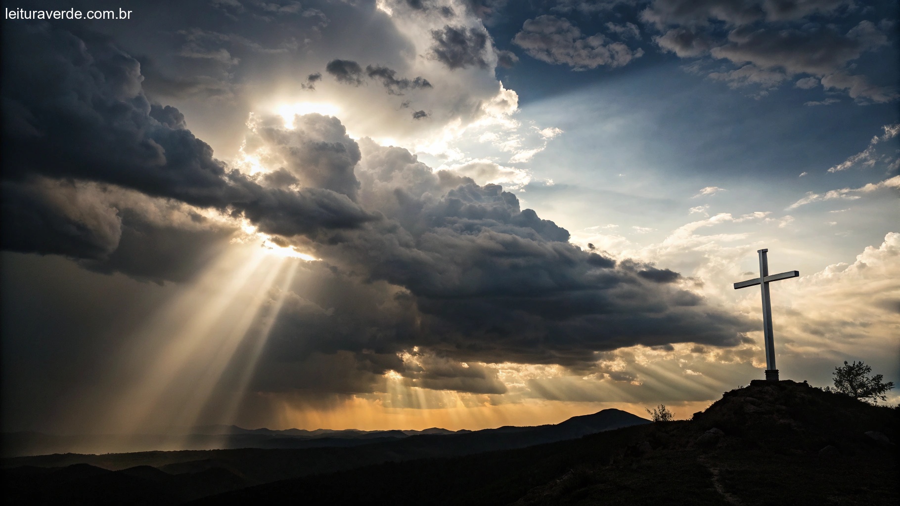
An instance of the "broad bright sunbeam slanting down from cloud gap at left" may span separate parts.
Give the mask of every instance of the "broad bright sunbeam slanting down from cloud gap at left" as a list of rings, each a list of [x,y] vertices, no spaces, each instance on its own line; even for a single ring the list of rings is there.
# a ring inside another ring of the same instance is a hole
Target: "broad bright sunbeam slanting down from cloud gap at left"
[[[122,363],[128,364],[129,376],[134,371],[138,374],[112,404],[113,430],[184,432],[201,421],[220,387],[228,392],[231,405],[216,411],[226,413],[226,418],[233,415],[299,262],[272,254],[266,247],[232,244],[226,248],[198,280],[126,340]],[[279,295],[266,313],[262,330],[256,332],[257,316],[270,302],[276,285]],[[236,360],[236,352],[246,350],[247,344],[249,356]],[[238,388],[220,385],[236,361],[244,364]]]

